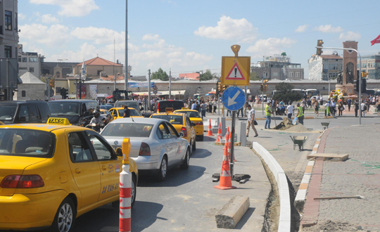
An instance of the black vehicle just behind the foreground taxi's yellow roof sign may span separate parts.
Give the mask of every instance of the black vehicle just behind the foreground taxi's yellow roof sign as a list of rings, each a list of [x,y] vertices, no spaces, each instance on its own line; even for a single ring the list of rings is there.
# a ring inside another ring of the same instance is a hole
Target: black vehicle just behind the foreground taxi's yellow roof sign
[[[65,117],[73,125],[87,125],[91,120],[92,112],[99,109],[95,100],[58,100],[48,103],[51,117]]]

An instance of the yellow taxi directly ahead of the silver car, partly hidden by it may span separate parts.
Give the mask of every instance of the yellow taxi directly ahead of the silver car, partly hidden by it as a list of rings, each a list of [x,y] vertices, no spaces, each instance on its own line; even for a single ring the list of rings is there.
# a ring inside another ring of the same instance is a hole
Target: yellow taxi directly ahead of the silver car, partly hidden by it
[[[153,113],[151,118],[159,118],[170,122],[178,133],[184,133],[183,138],[189,141],[189,144],[191,145],[191,153],[193,150],[196,150],[196,131],[194,129],[196,124],[191,122],[187,115],[179,112],[173,112],[173,108],[166,108],[166,112]]]

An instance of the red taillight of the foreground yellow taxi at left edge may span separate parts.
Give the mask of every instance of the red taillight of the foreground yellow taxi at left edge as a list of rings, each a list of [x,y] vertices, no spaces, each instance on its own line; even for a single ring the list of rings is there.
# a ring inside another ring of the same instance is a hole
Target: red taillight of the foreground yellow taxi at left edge
[[[39,175],[11,175],[6,176],[0,184],[1,188],[40,188],[45,183]]]

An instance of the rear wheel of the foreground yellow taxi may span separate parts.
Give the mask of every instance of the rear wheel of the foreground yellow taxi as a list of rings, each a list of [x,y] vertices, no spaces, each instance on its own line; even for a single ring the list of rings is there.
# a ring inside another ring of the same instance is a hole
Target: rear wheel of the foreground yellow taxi
[[[53,224],[48,231],[50,232],[69,232],[72,231],[73,224],[77,217],[77,210],[71,198],[67,197],[61,205],[59,205],[54,217]]]

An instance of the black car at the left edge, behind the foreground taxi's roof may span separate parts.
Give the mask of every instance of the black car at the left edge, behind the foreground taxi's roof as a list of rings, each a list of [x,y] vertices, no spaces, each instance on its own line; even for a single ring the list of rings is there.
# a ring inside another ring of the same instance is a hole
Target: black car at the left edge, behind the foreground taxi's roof
[[[1,101],[0,122],[46,123],[51,113],[46,101]]]

